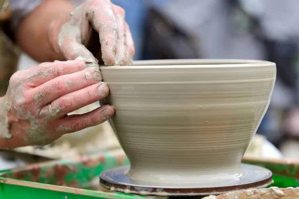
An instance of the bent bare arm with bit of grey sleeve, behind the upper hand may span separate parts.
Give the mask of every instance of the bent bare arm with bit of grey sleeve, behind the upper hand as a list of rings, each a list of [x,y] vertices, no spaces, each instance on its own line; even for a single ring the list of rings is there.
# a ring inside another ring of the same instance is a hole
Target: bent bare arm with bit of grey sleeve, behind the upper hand
[[[71,2],[68,0],[10,0],[10,9],[15,40],[24,52],[38,62],[64,60],[61,54],[54,51],[49,41],[49,29],[53,21],[59,20],[63,23],[61,18],[66,18],[74,9]]]

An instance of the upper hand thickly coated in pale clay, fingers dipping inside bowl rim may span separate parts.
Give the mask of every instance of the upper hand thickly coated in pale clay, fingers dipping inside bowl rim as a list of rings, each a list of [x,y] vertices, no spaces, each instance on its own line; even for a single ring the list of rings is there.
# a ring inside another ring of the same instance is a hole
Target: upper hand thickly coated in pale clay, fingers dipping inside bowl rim
[[[102,57],[104,64],[111,66],[129,65],[133,59],[134,43],[125,11],[110,0],[87,0],[65,21],[53,21],[49,34],[54,49],[67,60],[81,59],[97,66],[96,58]],[[96,58],[87,46],[92,46]]]

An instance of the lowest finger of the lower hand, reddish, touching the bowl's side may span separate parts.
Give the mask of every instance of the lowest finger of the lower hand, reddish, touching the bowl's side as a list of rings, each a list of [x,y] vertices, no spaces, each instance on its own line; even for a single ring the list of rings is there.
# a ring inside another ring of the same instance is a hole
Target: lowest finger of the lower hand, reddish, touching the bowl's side
[[[65,134],[95,126],[112,117],[114,112],[112,106],[105,105],[85,114],[69,115],[57,122],[56,131]]]

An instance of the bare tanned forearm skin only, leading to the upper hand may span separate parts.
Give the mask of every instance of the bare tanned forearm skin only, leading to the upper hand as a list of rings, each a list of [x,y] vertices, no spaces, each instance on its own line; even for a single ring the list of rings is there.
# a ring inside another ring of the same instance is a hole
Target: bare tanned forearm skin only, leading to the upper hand
[[[44,0],[16,28],[16,42],[38,62],[64,60],[62,54],[54,50],[55,41],[49,38],[50,34],[58,35],[64,22],[61,19],[66,19],[73,9],[68,0]]]

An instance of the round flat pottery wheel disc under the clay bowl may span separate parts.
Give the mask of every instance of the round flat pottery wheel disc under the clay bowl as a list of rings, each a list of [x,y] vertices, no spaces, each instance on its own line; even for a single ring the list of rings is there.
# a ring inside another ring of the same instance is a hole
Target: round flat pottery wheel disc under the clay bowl
[[[133,180],[126,176],[129,168],[129,166],[123,166],[102,172],[100,175],[101,186],[111,191],[126,194],[192,197],[219,195],[236,190],[266,188],[273,183],[272,172],[270,170],[249,164],[241,165],[243,175],[238,178],[216,183],[216,186],[207,186],[206,182],[198,182],[192,187],[153,186],[146,179],[144,181],[133,182]]]

